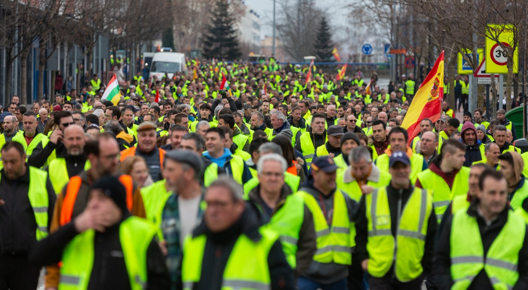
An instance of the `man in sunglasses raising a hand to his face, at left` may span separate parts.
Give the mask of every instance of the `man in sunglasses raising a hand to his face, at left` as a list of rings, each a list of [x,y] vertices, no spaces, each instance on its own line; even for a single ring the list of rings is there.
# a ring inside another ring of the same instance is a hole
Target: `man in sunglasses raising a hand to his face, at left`
[[[31,166],[40,168],[49,164],[56,156],[67,154],[66,147],[62,143],[64,129],[70,125],[75,124],[70,111],[58,111],[54,114],[55,126],[50,135],[50,142],[45,146],[42,143],[37,145],[33,150],[33,154],[27,158],[27,163]]]

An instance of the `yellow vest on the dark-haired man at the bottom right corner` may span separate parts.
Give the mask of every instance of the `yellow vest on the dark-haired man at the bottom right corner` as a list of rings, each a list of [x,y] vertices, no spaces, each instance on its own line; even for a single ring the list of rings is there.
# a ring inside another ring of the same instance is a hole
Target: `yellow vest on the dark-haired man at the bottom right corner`
[[[519,251],[526,235],[524,219],[508,210],[508,220],[484,255],[475,217],[466,211],[454,214],[451,224],[451,289],[467,289],[483,269],[494,289],[512,289],[519,278]]]

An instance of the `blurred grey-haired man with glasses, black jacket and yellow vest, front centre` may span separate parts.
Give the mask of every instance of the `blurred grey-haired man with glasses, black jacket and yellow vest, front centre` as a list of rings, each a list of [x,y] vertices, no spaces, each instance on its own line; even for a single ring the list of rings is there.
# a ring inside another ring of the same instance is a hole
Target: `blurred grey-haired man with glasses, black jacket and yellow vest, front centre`
[[[210,288],[221,280],[232,288],[295,288],[279,236],[261,227],[258,209],[244,201],[240,184],[221,177],[206,190],[204,200],[203,220],[183,247],[180,269],[186,288]],[[243,270],[240,263],[228,263],[233,260],[254,267]]]

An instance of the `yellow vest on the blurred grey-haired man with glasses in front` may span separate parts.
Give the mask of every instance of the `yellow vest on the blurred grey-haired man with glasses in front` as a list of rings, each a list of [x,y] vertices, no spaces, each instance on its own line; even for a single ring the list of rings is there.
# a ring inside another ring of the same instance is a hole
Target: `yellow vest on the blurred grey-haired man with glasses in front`
[[[258,241],[251,240],[243,233],[239,236],[224,268],[222,290],[271,289],[268,256],[278,235],[267,227],[259,229],[262,237]],[[182,261],[184,290],[192,290],[194,284],[200,282],[206,241],[205,235],[185,238]]]

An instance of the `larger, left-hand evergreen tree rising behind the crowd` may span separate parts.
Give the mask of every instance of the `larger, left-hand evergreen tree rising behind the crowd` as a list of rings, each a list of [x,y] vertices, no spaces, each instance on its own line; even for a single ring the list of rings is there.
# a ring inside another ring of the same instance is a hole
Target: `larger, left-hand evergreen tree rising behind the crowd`
[[[240,58],[238,33],[234,29],[234,18],[229,13],[228,0],[216,2],[211,18],[211,24],[203,38],[203,56],[219,60]]]

